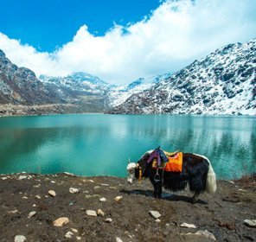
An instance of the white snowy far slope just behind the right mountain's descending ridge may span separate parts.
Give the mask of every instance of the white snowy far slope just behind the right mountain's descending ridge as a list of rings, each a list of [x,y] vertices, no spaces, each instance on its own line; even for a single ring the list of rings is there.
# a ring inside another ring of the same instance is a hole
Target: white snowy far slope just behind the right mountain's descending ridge
[[[115,107],[124,103],[133,94],[143,92],[155,86],[158,82],[170,78],[171,73],[164,73],[150,78],[139,78],[128,85],[112,86],[108,93],[109,105]]]

